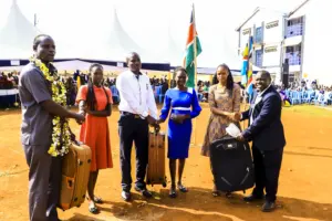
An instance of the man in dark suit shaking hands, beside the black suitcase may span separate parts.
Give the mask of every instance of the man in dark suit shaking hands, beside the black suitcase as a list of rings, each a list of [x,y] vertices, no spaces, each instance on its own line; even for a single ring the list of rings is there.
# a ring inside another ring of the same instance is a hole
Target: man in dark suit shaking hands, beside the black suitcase
[[[276,208],[279,171],[286,145],[283,126],[281,123],[281,98],[271,86],[271,75],[261,71],[256,76],[257,95],[252,99],[249,110],[243,112],[241,120],[249,119],[249,127],[237,138],[241,141],[252,140],[252,156],[255,164],[256,187],[252,193],[245,197],[245,201],[263,199],[263,212]]]

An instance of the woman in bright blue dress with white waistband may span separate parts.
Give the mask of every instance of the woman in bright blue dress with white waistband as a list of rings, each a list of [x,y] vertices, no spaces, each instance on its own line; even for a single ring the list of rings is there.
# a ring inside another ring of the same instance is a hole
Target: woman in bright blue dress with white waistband
[[[181,192],[188,189],[183,186],[181,177],[185,168],[186,158],[188,158],[191,119],[197,117],[201,112],[198,98],[194,88],[186,87],[187,72],[183,67],[175,70],[176,87],[167,90],[165,102],[162,109],[159,123],[164,123],[169,114],[168,120],[168,158],[172,186],[169,197],[176,198],[176,160],[178,159],[178,181],[177,188]]]

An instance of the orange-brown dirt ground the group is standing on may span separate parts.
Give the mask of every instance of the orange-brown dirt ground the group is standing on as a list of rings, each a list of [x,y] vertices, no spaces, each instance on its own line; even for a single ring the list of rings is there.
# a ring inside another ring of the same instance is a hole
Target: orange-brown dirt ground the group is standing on
[[[205,105],[204,105],[205,106]],[[312,106],[283,109],[282,120],[287,147],[282,162],[278,209],[260,212],[261,203],[246,203],[242,192],[232,199],[214,198],[209,159],[199,155],[209,109],[204,108],[196,123],[196,147],[185,168],[184,183],[188,193],[168,198],[168,189],[148,187],[154,199],[145,200],[134,192],[133,202],[124,202],[121,193],[118,164],[117,108],[110,117],[114,168],[103,170],[96,194],[105,203],[101,213],[93,215],[87,203],[69,211],[59,211],[60,219],[69,221],[160,220],[160,221],[279,221],[332,220],[332,113]],[[20,144],[20,110],[0,112],[0,221],[28,220],[28,167]],[[79,126],[71,122],[75,133]],[[165,130],[165,126],[163,129]],[[134,158],[134,156],[133,156]],[[168,175],[168,170],[167,170]],[[169,175],[168,175],[169,177]],[[169,183],[168,183],[169,187]],[[250,191],[248,191],[250,192]]]

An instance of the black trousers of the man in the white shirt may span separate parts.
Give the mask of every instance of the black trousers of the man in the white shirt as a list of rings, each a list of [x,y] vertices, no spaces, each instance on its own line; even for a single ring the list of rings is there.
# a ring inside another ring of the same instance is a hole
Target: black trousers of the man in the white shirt
[[[120,162],[122,172],[122,189],[131,191],[132,188],[132,146],[136,147],[136,187],[145,188],[145,173],[148,155],[148,123],[134,115],[121,115],[118,120]]]

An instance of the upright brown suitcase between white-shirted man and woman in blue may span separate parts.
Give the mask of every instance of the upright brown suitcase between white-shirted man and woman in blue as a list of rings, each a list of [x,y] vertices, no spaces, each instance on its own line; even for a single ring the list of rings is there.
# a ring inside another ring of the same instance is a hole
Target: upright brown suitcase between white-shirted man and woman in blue
[[[148,165],[146,183],[152,186],[163,185],[163,187],[166,187],[165,134],[151,131],[148,136]]]

